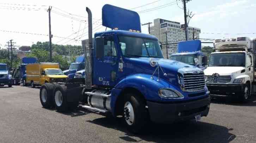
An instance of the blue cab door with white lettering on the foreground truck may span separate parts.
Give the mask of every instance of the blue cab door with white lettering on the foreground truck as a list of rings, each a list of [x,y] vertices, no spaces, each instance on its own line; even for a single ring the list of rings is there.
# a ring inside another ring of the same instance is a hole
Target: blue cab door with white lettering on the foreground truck
[[[107,35],[104,37],[104,42],[98,46],[100,43],[96,39],[96,56],[93,64],[93,76],[95,77],[93,83],[96,85],[114,87],[117,83],[118,54],[116,40],[116,35]]]

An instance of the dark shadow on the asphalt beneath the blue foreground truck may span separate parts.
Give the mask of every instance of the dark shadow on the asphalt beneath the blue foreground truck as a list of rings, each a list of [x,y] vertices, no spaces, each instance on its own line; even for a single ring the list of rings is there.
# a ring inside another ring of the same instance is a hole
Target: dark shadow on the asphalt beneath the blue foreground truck
[[[140,142],[142,140],[147,142],[190,142],[190,143],[228,143],[236,138],[236,135],[231,134],[225,126],[188,121],[184,123],[175,124],[154,124],[151,123],[143,134],[131,134],[122,122],[122,118],[113,118],[106,116],[97,118],[93,121],[87,121],[93,124],[104,126],[124,132],[123,136],[119,138],[128,142]],[[139,138],[139,139],[138,139]]]

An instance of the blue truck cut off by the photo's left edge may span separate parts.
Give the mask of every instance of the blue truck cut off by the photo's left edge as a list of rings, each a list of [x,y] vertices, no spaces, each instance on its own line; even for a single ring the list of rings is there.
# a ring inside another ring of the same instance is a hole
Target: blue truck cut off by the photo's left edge
[[[12,87],[12,75],[9,73],[7,64],[0,63],[0,86]]]

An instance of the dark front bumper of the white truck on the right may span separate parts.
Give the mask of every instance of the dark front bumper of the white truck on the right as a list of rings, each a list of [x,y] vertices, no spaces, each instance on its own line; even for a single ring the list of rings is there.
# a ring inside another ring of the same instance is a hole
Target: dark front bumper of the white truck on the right
[[[211,97],[238,97],[243,94],[245,84],[207,84]]]

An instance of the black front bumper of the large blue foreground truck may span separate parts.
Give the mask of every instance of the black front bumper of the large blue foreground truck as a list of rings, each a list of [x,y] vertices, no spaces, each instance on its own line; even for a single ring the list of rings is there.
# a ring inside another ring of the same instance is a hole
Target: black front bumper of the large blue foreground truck
[[[194,119],[196,115],[207,116],[210,97],[179,103],[156,103],[147,101],[150,119],[156,123],[173,123]],[[180,116],[179,116],[179,113]]]

